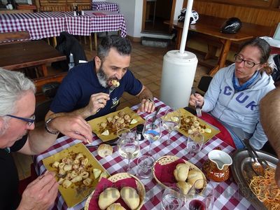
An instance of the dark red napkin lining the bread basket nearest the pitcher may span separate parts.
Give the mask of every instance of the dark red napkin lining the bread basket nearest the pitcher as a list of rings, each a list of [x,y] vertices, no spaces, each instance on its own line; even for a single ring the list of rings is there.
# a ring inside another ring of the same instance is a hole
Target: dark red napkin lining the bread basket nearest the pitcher
[[[174,176],[174,169],[179,163],[184,163],[183,159],[176,160],[167,165],[155,164],[155,177],[165,186],[176,186],[176,179]]]

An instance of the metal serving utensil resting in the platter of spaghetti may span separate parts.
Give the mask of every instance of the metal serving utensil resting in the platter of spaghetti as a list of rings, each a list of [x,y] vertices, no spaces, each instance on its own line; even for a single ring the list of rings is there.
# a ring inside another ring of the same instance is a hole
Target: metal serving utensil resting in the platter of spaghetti
[[[244,144],[245,144],[245,146],[248,150],[248,154],[250,155],[251,158],[253,158],[253,162],[252,162],[252,165],[251,165],[252,168],[253,168],[253,171],[258,176],[263,176],[265,174],[265,169],[267,169],[267,167],[269,167],[267,161],[258,156],[258,153],[251,146],[248,139],[244,139]]]

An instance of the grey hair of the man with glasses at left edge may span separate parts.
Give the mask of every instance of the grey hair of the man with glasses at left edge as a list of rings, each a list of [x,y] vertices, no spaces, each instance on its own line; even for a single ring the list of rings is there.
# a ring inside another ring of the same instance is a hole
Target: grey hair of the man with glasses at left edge
[[[0,67],[0,116],[15,113],[15,103],[27,91],[36,92],[29,78],[19,71],[8,71]]]

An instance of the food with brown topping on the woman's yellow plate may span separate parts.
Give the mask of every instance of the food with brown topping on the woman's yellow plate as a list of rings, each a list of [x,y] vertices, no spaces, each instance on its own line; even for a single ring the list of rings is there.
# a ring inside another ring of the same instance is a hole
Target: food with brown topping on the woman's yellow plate
[[[195,116],[181,116],[181,130],[188,134],[204,134],[211,133],[211,129],[206,125],[202,125]]]

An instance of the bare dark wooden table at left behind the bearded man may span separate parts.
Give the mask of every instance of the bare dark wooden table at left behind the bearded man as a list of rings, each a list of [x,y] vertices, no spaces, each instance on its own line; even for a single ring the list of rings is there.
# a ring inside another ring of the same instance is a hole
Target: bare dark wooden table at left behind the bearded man
[[[66,59],[45,41],[28,41],[0,45],[0,66],[18,70],[30,66],[41,66],[43,76],[48,76],[47,63]]]

